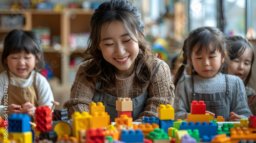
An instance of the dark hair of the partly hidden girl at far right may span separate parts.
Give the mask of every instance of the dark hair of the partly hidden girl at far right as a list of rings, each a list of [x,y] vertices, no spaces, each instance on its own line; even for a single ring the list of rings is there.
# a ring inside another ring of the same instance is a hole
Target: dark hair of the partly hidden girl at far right
[[[251,68],[254,61],[254,50],[253,44],[249,42],[247,39],[244,39],[241,36],[226,36],[226,44],[227,44],[227,51],[230,60],[239,58],[242,56],[246,49],[249,49],[252,54],[251,59]],[[248,76],[244,80],[244,85],[246,86],[251,78],[251,68],[249,71]]]

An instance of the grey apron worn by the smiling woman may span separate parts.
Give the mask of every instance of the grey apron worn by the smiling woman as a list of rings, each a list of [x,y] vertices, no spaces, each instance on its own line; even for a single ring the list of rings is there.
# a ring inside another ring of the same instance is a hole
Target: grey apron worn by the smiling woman
[[[157,72],[157,69],[160,65],[162,61],[160,61],[156,67],[156,69],[154,70],[154,73],[152,76],[154,76],[154,74]],[[100,84],[101,84],[101,79],[99,79],[96,83],[96,89],[100,88]],[[133,112],[132,112],[132,117],[133,117],[133,121],[137,120],[140,113],[142,113],[144,111],[144,108],[146,107],[146,101],[147,99],[150,98],[149,96],[149,91],[148,89],[141,94],[140,96],[131,99],[133,101]],[[112,122],[115,121],[115,118],[117,117],[117,111],[116,111],[116,101],[117,101],[117,97],[111,96],[109,94],[106,93],[98,93],[98,92],[94,92],[94,97],[93,97],[93,102],[102,102],[103,105],[105,106],[105,111],[108,112],[108,114],[110,115],[110,120],[112,120]]]

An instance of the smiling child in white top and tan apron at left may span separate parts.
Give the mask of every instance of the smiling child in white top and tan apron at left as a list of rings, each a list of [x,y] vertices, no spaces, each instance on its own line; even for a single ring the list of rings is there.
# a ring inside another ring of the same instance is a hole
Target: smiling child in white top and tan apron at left
[[[12,113],[33,115],[36,106],[52,107],[51,87],[46,78],[37,73],[44,68],[38,35],[31,31],[10,31],[4,39],[2,64],[6,69],[0,74],[2,117]]]

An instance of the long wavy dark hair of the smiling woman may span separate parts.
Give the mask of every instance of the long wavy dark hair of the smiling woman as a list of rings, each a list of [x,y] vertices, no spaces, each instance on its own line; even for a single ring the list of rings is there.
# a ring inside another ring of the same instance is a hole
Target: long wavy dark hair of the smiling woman
[[[135,75],[139,82],[147,82],[152,77],[151,60],[154,58],[152,47],[147,42],[143,30],[144,24],[141,20],[140,12],[135,5],[125,0],[112,0],[102,3],[95,10],[90,20],[90,36],[88,49],[82,53],[84,61],[84,75],[93,83],[92,78],[101,79],[101,88],[97,92],[111,90],[116,86],[116,67],[107,62],[99,48],[101,39],[101,27],[114,20],[123,23],[130,37],[139,44],[139,54],[135,61]],[[93,84],[92,84],[93,85]]]

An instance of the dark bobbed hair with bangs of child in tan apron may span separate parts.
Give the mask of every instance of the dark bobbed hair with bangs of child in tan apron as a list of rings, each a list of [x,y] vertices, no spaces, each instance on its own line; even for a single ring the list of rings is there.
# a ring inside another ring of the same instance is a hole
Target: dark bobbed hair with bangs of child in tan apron
[[[2,64],[6,70],[9,70],[7,57],[10,54],[21,53],[25,51],[27,54],[35,55],[38,63],[35,65],[36,71],[41,71],[45,67],[44,53],[42,53],[40,37],[32,32],[25,30],[12,30],[4,39],[4,51],[2,54]],[[41,57],[39,56],[41,54]]]

